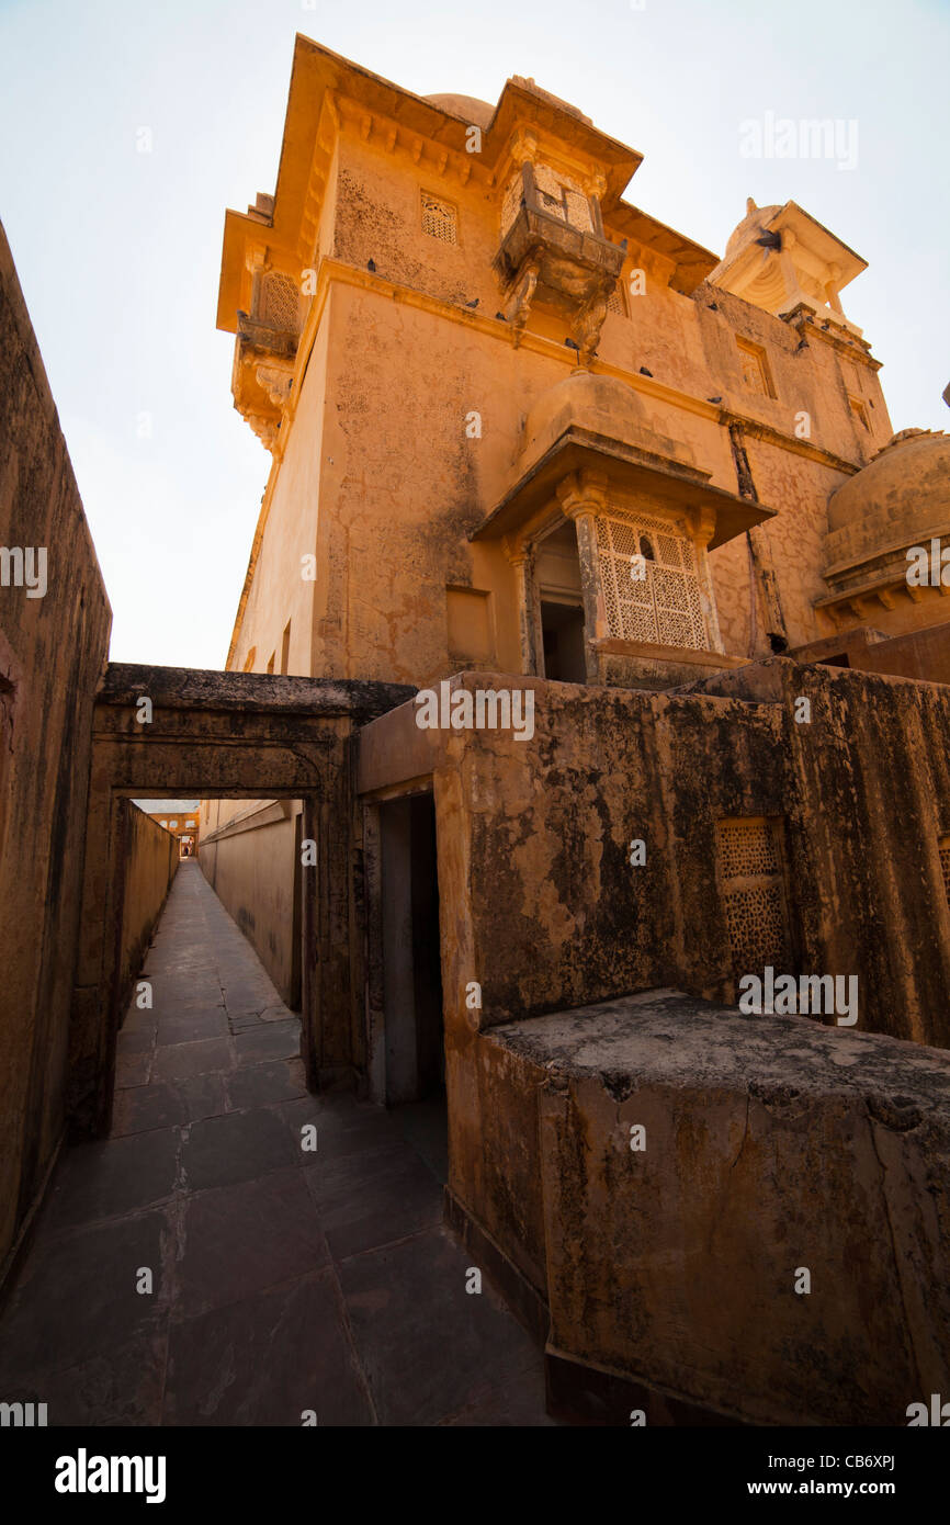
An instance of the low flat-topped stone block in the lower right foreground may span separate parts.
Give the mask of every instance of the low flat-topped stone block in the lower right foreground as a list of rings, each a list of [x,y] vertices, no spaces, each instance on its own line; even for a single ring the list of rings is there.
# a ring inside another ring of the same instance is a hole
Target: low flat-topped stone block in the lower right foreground
[[[950,1392],[945,1052],[671,991],[479,1048],[485,1228],[575,1409],[904,1426]]]

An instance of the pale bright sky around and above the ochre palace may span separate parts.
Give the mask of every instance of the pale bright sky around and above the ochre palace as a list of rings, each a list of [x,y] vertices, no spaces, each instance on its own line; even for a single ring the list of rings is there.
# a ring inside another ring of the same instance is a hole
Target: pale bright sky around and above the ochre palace
[[[113,660],[227,653],[270,458],[215,329],[221,229],[274,189],[297,30],[419,95],[494,102],[534,76],[645,156],[628,200],[717,253],[747,195],[794,198],[869,262],[843,305],[894,427],[950,429],[947,0],[0,0],[0,218]],[[743,157],[740,124],[767,111],[855,120],[857,168]]]

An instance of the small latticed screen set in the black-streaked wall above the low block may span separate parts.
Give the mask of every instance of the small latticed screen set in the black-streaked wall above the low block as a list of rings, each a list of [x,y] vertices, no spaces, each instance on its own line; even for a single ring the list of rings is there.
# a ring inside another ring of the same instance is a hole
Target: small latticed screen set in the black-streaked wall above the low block
[[[720,881],[732,967],[759,974],[765,965],[790,973],[782,865],[775,827],[764,819],[717,824]]]

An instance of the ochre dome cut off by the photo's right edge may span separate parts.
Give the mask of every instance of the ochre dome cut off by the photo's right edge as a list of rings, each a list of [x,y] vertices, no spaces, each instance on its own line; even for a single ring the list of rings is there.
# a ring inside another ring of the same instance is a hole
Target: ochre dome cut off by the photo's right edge
[[[950,522],[950,436],[904,429],[849,477],[828,503],[831,532],[869,520],[910,544],[918,532]]]

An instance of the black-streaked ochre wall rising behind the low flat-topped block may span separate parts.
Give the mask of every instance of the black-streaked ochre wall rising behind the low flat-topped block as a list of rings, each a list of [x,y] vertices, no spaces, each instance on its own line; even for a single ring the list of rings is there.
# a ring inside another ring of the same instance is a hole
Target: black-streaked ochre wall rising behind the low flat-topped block
[[[672,694],[522,686],[532,740],[403,706],[361,737],[360,787],[433,776],[451,1186],[537,1286],[534,1135],[520,1103],[499,1135],[509,1077],[477,1032],[660,987],[733,1002],[718,820],[781,822],[788,973],[854,974],[860,1031],[950,1046],[950,689],[785,657]]]

